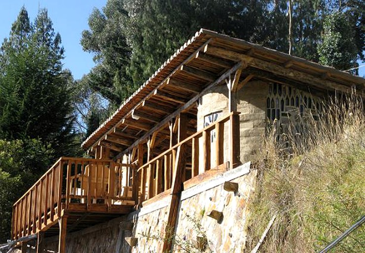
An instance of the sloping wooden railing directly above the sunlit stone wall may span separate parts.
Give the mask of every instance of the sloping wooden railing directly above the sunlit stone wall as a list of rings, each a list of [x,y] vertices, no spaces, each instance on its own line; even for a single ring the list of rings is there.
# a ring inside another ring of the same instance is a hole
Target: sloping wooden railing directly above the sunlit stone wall
[[[225,127],[228,127],[228,131],[224,130]],[[233,168],[239,162],[239,141],[238,112],[232,112],[185,138],[139,167],[140,202],[171,188],[179,147],[184,147],[185,166],[182,181],[185,181],[227,162],[229,167]]]

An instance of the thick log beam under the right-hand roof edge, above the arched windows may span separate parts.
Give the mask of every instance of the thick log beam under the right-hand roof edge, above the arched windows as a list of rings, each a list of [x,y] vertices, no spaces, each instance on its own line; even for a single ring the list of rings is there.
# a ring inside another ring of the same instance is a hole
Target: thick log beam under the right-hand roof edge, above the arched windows
[[[319,88],[327,88],[327,89],[337,89],[339,91],[343,92],[350,92],[351,87],[345,87],[344,85],[329,81],[329,80],[323,80],[320,77],[312,76],[306,73],[303,73],[301,71],[293,70],[293,69],[287,69],[284,66],[274,64],[268,61],[264,61],[261,59],[253,58],[251,56],[239,53],[239,52],[233,52],[230,50],[222,49],[219,47],[214,46],[206,46],[206,53],[216,55],[222,58],[230,59],[230,60],[236,60],[236,61],[246,61],[249,66],[253,66],[258,69],[262,69],[271,73],[274,73],[279,76],[284,76],[287,78],[290,78],[292,80],[299,81],[301,83],[311,84]]]

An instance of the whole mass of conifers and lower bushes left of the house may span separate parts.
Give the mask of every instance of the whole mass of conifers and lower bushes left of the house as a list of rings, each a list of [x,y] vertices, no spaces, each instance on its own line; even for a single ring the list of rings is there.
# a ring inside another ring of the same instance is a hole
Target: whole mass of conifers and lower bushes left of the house
[[[0,243],[10,238],[14,202],[59,156],[73,156],[71,72],[46,9],[21,8],[0,49]]]

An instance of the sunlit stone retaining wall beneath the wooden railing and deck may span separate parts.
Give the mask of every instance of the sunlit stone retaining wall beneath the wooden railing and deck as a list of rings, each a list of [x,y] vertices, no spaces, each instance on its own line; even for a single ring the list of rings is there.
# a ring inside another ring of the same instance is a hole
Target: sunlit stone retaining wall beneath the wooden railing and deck
[[[249,168],[250,163],[247,163],[233,170],[216,173],[208,180],[182,192],[175,250],[192,247],[191,252],[199,252],[196,249],[202,245],[199,243],[200,238],[205,237],[206,251],[242,252],[247,235],[247,202],[255,190],[256,179],[256,170],[250,171]],[[225,191],[225,181],[238,183],[238,191]],[[170,199],[167,195],[127,216],[68,234],[67,252],[161,252]],[[209,216],[213,210],[222,213],[219,220]],[[133,223],[133,227],[128,228],[126,224],[130,223]],[[134,247],[128,244],[130,237],[137,238]],[[48,252],[57,252],[57,246],[56,237],[46,239]]]

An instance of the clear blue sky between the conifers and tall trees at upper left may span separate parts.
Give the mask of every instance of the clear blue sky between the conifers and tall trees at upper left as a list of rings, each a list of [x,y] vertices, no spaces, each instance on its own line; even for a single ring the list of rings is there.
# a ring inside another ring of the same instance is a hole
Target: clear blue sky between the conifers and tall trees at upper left
[[[11,24],[24,5],[31,21],[34,21],[40,8],[47,8],[53,28],[61,34],[65,48],[64,66],[70,69],[74,79],[87,74],[94,62],[92,54],[84,52],[80,45],[81,33],[88,29],[88,17],[94,7],[102,8],[107,0],[1,0],[0,3],[0,42],[9,36]]]

